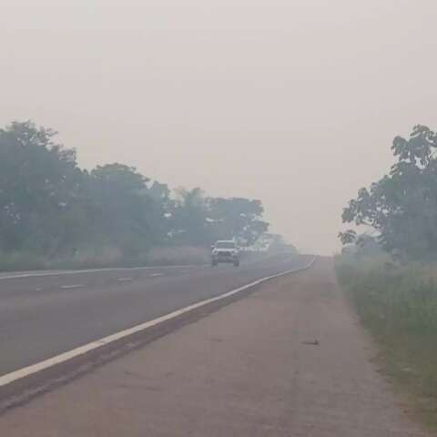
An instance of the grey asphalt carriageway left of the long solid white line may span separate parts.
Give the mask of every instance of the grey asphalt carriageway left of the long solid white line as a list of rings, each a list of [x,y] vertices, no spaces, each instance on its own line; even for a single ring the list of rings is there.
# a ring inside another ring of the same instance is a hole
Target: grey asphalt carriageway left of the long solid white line
[[[0,276],[0,375],[153,320],[251,281],[305,265],[279,256],[219,266]],[[12,277],[11,277],[12,276]]]

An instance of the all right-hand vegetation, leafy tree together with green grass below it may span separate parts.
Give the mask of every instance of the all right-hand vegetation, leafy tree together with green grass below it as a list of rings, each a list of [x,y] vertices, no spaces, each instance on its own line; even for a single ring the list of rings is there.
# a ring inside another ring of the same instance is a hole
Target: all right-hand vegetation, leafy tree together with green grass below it
[[[391,149],[389,173],[343,210],[355,228],[340,232],[336,269],[382,371],[437,429],[437,134],[417,126]]]

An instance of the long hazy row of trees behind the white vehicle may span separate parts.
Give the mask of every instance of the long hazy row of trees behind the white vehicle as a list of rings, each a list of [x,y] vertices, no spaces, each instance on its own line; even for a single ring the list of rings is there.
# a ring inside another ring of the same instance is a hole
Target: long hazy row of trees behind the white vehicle
[[[157,246],[252,244],[269,224],[259,200],[171,190],[136,168],[79,168],[76,150],[31,121],[0,129],[0,251],[48,259],[111,247],[135,257]]]

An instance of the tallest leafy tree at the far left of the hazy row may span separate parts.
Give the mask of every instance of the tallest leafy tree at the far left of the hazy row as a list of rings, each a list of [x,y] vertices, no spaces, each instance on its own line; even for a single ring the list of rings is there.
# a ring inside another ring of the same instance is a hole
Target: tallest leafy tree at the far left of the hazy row
[[[61,226],[74,208],[82,172],[76,152],[56,132],[30,121],[0,129],[0,246],[53,253],[66,239]]]

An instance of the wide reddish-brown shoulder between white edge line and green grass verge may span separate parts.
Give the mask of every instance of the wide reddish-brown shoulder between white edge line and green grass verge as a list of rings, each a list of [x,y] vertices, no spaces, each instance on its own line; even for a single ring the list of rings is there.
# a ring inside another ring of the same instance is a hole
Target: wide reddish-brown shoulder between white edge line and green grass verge
[[[9,437],[428,436],[371,363],[330,259],[0,417]]]

